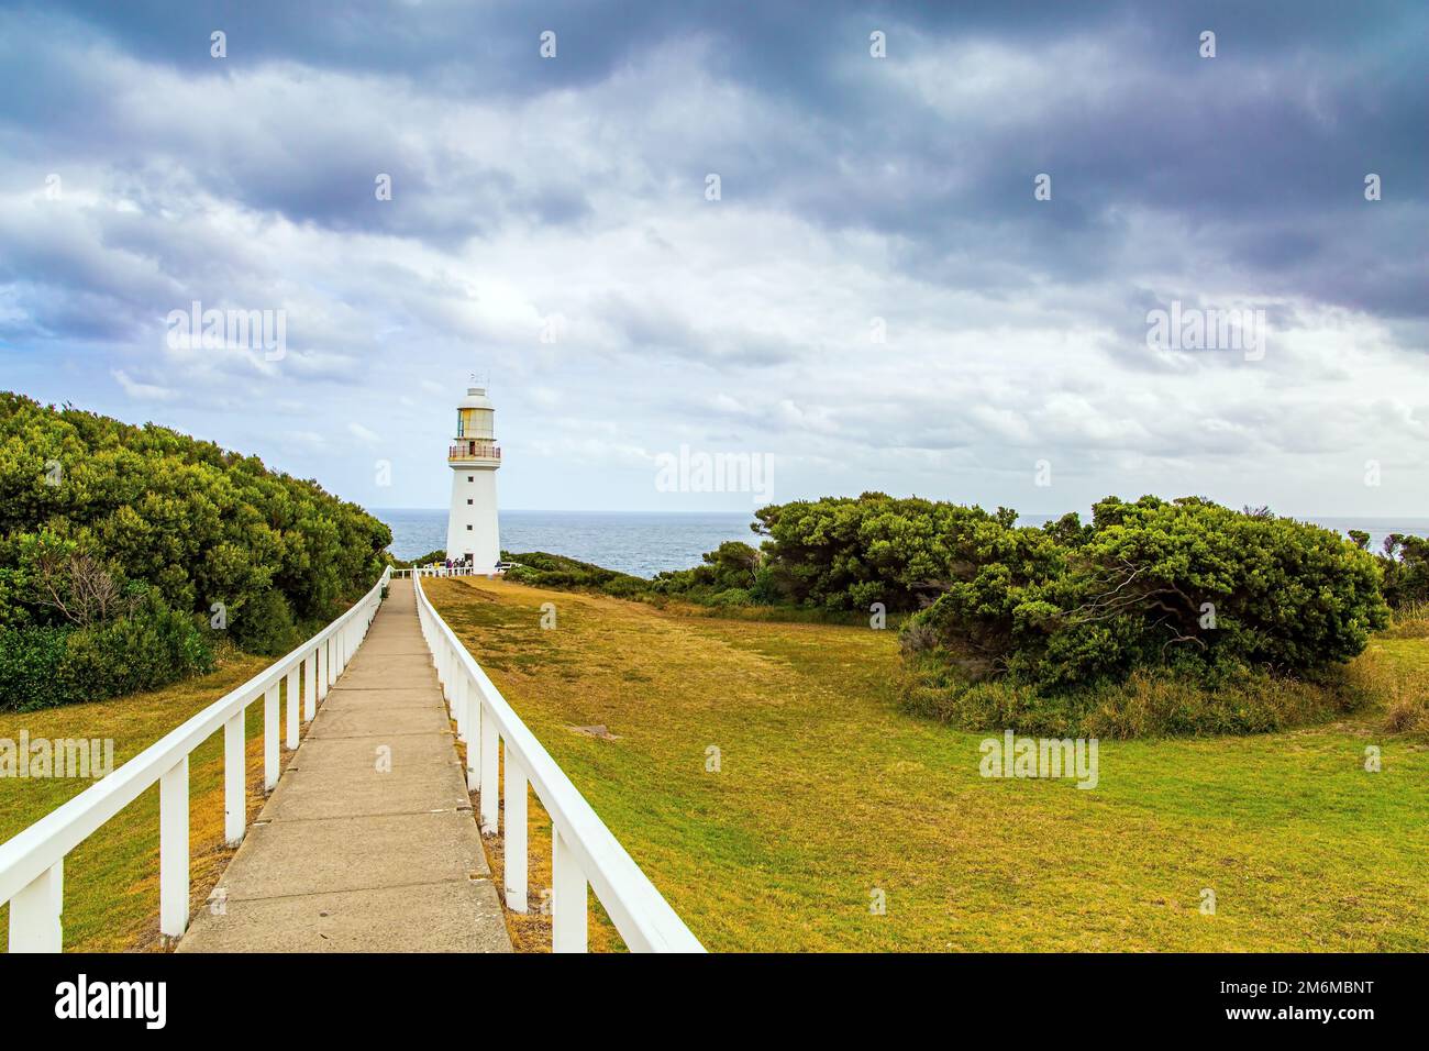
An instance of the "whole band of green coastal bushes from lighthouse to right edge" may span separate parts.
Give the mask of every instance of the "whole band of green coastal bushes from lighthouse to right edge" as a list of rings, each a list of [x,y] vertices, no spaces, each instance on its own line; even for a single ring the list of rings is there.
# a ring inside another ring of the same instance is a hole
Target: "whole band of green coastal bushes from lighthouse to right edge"
[[[1043,526],[1017,526],[1006,508],[883,493],[756,518],[759,548],[726,542],[654,579],[546,552],[509,555],[509,578],[893,625],[903,705],[969,729],[1252,734],[1389,704],[1399,725],[1429,731],[1423,692],[1389,696],[1373,661],[1352,666],[1375,632],[1425,623],[1419,538],[1393,535],[1376,555],[1365,533],[1155,496],[1109,496],[1090,522],[1069,513]]]

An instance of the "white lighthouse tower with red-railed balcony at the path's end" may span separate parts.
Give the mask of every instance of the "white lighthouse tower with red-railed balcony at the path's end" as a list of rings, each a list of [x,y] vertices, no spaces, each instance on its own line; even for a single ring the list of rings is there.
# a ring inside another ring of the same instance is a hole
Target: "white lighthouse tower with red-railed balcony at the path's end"
[[[452,513],[447,518],[447,558],[470,562],[477,573],[494,573],[502,558],[496,525],[496,409],[486,388],[467,388],[456,408],[456,442],[447,452],[452,468]]]

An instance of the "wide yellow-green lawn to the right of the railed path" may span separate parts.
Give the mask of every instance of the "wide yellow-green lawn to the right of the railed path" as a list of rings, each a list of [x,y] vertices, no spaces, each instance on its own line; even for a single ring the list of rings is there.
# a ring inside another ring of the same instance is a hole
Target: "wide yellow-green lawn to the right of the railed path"
[[[899,708],[890,631],[423,586],[710,949],[1429,949],[1429,748],[1383,711],[1103,741],[1093,791],[993,781],[983,734]],[[1375,645],[1429,675],[1429,641]]]

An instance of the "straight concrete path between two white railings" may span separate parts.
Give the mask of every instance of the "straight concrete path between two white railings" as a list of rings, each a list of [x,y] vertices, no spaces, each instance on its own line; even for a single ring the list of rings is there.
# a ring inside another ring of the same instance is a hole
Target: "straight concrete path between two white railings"
[[[512,951],[412,581],[392,582],[179,951]]]

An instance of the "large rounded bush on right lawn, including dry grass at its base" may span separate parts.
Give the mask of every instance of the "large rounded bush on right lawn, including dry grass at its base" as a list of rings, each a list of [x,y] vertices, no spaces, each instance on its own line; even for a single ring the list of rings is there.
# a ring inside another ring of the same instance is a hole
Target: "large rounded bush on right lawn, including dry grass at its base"
[[[1389,609],[1338,533],[1152,496],[1006,533],[905,626],[910,706],[1023,732],[1252,732],[1365,696],[1336,669]]]

